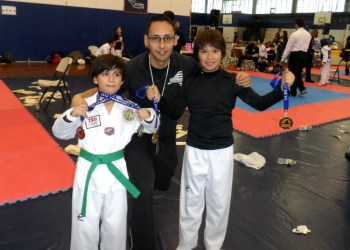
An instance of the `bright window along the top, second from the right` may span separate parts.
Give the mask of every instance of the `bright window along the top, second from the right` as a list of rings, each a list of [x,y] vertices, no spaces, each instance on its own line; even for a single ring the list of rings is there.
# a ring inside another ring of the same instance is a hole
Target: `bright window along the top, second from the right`
[[[255,12],[256,14],[292,13],[292,4],[293,0],[257,0]]]

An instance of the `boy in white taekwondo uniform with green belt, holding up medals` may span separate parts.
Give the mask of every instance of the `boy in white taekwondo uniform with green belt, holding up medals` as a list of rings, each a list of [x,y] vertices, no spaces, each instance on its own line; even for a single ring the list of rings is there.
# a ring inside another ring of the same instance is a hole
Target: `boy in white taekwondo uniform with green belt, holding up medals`
[[[77,134],[81,147],[73,187],[71,249],[126,249],[126,189],[134,197],[140,192],[128,180],[124,147],[140,126],[153,133],[158,121],[153,109],[140,109],[117,93],[123,68],[121,58],[99,56],[91,71],[99,92],[85,99],[88,106],[64,112],[52,128],[60,139]]]

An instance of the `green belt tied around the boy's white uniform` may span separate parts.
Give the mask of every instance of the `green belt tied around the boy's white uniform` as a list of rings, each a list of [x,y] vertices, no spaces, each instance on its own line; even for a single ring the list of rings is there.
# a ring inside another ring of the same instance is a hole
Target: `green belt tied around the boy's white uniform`
[[[137,198],[140,195],[140,191],[132,184],[120,170],[112,164],[113,161],[117,161],[124,157],[124,149],[119,150],[114,153],[106,154],[106,155],[94,155],[90,152],[80,149],[80,157],[84,158],[87,161],[91,162],[91,166],[86,176],[85,188],[84,188],[84,197],[83,197],[83,205],[81,208],[81,214],[79,217],[86,216],[86,203],[87,203],[87,191],[89,189],[89,183],[92,176],[92,173],[96,169],[96,167],[100,164],[106,164],[109,171],[114,175],[115,178],[129,191],[129,193]]]

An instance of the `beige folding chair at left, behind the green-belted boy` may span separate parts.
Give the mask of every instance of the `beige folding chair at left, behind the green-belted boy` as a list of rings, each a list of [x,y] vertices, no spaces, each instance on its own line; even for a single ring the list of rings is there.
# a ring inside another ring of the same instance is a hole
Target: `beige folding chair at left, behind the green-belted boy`
[[[44,110],[47,109],[49,104],[51,103],[52,99],[54,99],[55,93],[59,90],[62,95],[62,99],[64,103],[66,103],[65,95],[67,96],[67,99],[69,102],[71,102],[70,93],[68,90],[67,82],[66,82],[66,76],[69,73],[70,66],[72,65],[73,59],[71,57],[64,57],[60,60],[59,64],[56,67],[56,71],[52,77],[52,80],[38,80],[38,85],[43,89],[43,93],[39,100],[39,105],[43,101],[43,98],[45,94],[48,92],[49,89],[52,89],[52,94],[48,98],[47,103],[45,105]],[[46,98],[47,99],[47,98]]]

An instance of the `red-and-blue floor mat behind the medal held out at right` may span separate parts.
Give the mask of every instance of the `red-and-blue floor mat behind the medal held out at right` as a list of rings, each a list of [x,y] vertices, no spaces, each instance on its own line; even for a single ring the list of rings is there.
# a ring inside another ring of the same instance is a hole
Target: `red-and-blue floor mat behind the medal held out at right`
[[[274,75],[252,71],[247,73],[252,77],[253,89],[265,89],[265,93],[271,91],[268,79]],[[291,129],[279,127],[279,121],[284,115],[282,102],[263,112],[249,110],[237,102],[232,111],[233,128],[252,137],[262,138],[298,130],[301,126],[319,126],[350,118],[349,87],[332,84],[320,87],[311,83],[305,83],[305,86],[308,90],[305,96],[290,98],[288,116],[293,119]]]

